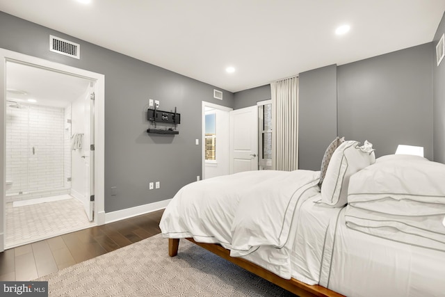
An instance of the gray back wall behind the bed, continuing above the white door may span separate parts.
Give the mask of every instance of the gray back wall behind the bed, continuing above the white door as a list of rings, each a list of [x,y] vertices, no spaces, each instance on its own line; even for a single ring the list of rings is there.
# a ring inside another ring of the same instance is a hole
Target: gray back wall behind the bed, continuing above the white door
[[[440,28],[445,31],[442,23]],[[376,156],[394,154],[399,144],[419,145],[432,160],[433,58],[430,42],[300,73],[299,168],[319,170],[325,149],[336,136],[371,141]],[[445,84],[440,81],[445,66],[441,67],[435,67],[434,145],[435,160],[443,162]],[[236,109],[252,106],[270,98],[270,86],[243,90],[234,98]]]

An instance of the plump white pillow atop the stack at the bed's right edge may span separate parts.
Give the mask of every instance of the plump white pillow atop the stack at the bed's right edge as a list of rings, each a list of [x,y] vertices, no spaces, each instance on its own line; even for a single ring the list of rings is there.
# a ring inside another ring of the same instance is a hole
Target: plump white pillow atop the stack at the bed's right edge
[[[373,166],[351,177],[348,202],[387,214],[435,214],[434,208],[438,210],[439,204],[445,204],[445,165],[421,156],[381,156]],[[362,204],[364,202],[366,204]],[[420,209],[414,202],[430,203],[431,209]]]

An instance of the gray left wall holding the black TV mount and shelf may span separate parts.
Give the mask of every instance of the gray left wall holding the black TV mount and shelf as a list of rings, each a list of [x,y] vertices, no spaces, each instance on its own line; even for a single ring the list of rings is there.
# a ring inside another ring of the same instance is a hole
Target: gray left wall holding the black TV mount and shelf
[[[49,51],[49,35],[77,42],[81,60]],[[0,47],[105,75],[105,211],[117,211],[172,198],[202,176],[201,102],[233,107],[234,95],[213,99],[213,86],[143,63],[0,12]],[[220,90],[220,88],[218,88]],[[148,99],[160,109],[177,107],[179,135],[147,134]],[[161,188],[148,189],[148,182]],[[118,195],[111,197],[111,187]]]

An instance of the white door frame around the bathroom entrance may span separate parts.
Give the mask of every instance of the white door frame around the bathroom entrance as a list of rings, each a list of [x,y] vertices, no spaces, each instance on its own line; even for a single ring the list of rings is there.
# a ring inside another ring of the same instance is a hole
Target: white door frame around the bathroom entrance
[[[105,76],[88,70],[82,70],[76,67],[60,64],[36,58],[25,54],[0,48],[0,114],[3,120],[0,121],[0,193],[2,193],[2,203],[0,203],[0,214],[3,218],[0,220],[0,252],[5,247],[6,231],[6,62],[22,63],[33,67],[62,72],[76,77],[83,77],[95,81],[95,223],[103,225],[105,223],[104,208],[104,105],[105,105]]]

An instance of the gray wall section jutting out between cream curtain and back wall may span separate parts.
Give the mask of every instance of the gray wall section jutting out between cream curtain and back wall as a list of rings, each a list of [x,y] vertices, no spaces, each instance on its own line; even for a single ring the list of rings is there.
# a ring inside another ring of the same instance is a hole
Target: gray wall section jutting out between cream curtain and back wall
[[[337,137],[337,65],[302,72],[298,94],[298,168],[320,170]]]

